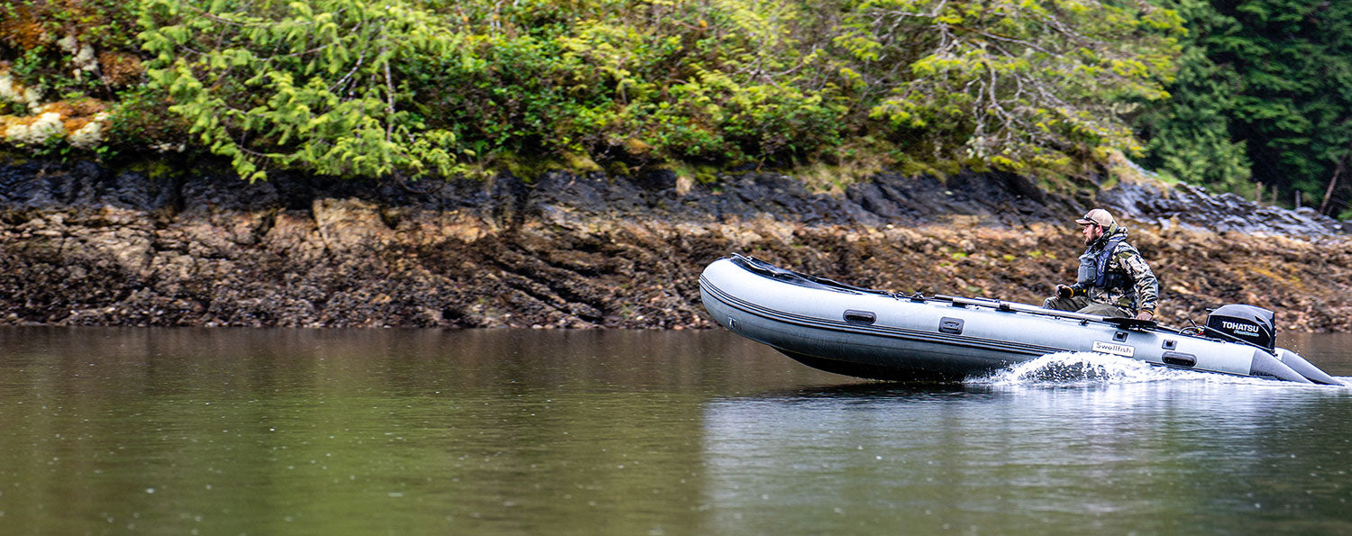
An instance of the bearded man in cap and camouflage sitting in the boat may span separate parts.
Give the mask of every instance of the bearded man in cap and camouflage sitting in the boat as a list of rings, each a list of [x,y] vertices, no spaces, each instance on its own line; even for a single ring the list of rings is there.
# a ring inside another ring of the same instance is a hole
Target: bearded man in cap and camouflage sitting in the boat
[[[1042,308],[1073,311],[1084,315],[1155,319],[1160,285],[1151,266],[1132,244],[1126,230],[1113,215],[1095,208],[1075,220],[1082,225],[1084,244],[1075,285],[1056,285],[1056,297]]]

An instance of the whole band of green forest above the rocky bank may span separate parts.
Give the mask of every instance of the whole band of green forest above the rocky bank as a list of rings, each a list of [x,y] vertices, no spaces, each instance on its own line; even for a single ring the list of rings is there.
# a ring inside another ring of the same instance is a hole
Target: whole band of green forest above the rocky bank
[[[0,135],[12,159],[211,154],[249,181],[1096,188],[1129,159],[1348,219],[1352,3],[5,0]]]

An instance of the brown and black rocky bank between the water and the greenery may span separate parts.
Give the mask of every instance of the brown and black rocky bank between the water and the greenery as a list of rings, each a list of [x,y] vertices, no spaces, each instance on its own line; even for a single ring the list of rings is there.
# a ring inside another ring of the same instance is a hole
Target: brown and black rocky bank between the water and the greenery
[[[1072,200],[1002,174],[880,176],[844,196],[768,174],[680,182],[0,166],[0,324],[710,327],[699,273],[734,251],[860,286],[1041,302],[1073,277],[1069,220],[1102,204],[1160,277],[1165,323],[1249,302],[1283,328],[1352,328],[1352,240],[1310,212],[1144,185]]]

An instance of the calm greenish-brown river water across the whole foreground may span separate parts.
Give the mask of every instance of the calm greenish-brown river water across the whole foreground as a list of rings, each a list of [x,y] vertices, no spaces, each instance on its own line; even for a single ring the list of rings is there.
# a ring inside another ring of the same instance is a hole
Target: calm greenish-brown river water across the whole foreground
[[[1283,333],[1333,375],[1352,336]],[[1091,374],[1090,374],[1091,373]],[[1349,533],[1352,390],[726,331],[0,329],[0,533]]]

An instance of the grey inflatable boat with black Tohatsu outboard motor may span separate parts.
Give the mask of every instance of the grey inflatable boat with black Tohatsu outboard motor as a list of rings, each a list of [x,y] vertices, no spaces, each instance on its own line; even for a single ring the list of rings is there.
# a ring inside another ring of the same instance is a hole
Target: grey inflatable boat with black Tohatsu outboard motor
[[[1064,351],[1301,383],[1343,385],[1275,346],[1275,315],[1225,305],[1182,329],[1136,319],[1052,311],[990,298],[904,296],[776,267],[715,261],[699,278],[721,325],[829,373],[886,381],[987,374]]]

